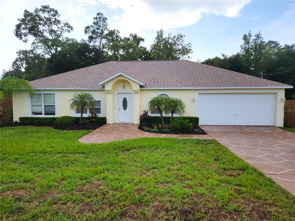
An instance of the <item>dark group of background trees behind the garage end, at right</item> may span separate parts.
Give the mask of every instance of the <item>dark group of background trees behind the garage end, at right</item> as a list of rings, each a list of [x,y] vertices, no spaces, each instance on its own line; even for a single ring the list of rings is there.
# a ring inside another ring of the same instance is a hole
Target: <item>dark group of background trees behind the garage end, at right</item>
[[[261,77],[262,72],[264,79],[295,87],[295,44],[282,46],[277,41],[265,42],[260,32],[254,36],[248,32],[242,39],[240,52],[229,56],[222,54],[202,63],[256,77]],[[286,99],[292,99],[292,94],[295,94],[294,88],[286,89]]]

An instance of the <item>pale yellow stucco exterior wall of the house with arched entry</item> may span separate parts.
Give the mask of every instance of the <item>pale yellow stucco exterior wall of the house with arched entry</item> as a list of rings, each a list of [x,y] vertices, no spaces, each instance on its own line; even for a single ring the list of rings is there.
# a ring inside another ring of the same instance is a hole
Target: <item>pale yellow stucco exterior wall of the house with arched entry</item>
[[[125,88],[122,88],[123,83]],[[116,78],[105,83],[105,90],[36,90],[38,92],[55,92],[57,96],[57,117],[73,116],[73,111],[69,108],[69,100],[75,93],[81,91],[90,92],[95,98],[102,99],[101,116],[107,117],[108,123],[116,122],[116,97],[117,92],[131,92],[133,94],[133,122],[139,123],[139,115],[143,110],[148,109],[148,99],[157,96],[158,94],[168,93],[172,97],[179,97],[186,104],[185,116],[196,116],[197,111],[197,93],[275,93],[275,126],[283,126],[283,106],[284,102],[281,99],[285,95],[285,89],[142,89],[139,84],[124,76]],[[193,97],[196,101],[193,102]],[[278,102],[279,101],[279,102]],[[28,104],[29,102],[29,104]],[[30,99],[26,93],[13,96],[13,118],[19,120],[19,117],[28,117],[30,115]],[[277,124],[277,117],[279,118]]]

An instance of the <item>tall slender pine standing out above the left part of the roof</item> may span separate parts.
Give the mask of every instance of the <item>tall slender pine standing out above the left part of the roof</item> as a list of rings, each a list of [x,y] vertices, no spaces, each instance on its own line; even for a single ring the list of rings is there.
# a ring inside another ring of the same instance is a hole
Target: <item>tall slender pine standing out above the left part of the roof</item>
[[[93,23],[85,27],[85,35],[88,35],[88,41],[99,47],[99,63],[102,63],[102,45],[108,32],[107,18],[101,12],[93,17]]]

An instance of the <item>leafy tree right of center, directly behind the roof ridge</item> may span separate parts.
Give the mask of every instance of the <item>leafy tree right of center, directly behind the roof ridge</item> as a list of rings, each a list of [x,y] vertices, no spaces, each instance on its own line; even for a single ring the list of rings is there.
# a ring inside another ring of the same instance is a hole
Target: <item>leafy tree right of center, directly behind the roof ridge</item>
[[[164,37],[164,31],[157,31],[154,43],[150,46],[151,57],[155,60],[179,60],[190,58],[192,53],[191,43],[185,43],[185,35],[168,34]]]

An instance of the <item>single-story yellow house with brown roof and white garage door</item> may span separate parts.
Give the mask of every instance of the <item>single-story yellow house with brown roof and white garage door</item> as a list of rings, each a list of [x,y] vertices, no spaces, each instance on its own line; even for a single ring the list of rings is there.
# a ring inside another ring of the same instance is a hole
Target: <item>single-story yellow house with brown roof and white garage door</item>
[[[14,120],[80,116],[69,100],[86,91],[107,123],[139,123],[149,100],[163,95],[181,98],[185,116],[199,117],[200,125],[283,126],[285,89],[292,88],[189,60],[110,61],[30,83],[33,96],[13,97]],[[157,109],[151,116],[159,116]]]

